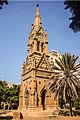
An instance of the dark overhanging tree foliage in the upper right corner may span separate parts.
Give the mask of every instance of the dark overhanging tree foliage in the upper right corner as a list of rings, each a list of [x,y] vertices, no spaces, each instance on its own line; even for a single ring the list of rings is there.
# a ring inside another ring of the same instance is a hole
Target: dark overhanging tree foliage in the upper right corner
[[[65,9],[69,9],[72,13],[72,17],[69,18],[71,20],[69,28],[74,32],[80,32],[80,1],[66,0],[64,5],[66,6]]]

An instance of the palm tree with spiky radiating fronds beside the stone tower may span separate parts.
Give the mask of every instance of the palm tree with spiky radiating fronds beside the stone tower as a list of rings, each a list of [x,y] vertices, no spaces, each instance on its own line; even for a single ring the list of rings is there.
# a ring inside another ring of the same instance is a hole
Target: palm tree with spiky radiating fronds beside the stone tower
[[[61,54],[55,60],[54,73],[49,82],[49,89],[55,93],[54,99],[59,100],[61,98],[65,103],[67,99],[69,100],[71,116],[71,100],[78,98],[78,91],[80,90],[80,64],[76,64],[77,59],[78,57],[70,53]]]

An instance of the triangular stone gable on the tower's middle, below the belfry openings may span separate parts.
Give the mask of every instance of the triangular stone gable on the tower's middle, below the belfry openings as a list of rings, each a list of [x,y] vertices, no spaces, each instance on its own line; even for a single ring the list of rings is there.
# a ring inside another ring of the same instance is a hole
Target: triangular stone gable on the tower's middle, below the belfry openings
[[[51,70],[50,64],[46,58],[45,53],[43,53],[38,65],[36,66],[36,68],[41,68],[44,70]]]

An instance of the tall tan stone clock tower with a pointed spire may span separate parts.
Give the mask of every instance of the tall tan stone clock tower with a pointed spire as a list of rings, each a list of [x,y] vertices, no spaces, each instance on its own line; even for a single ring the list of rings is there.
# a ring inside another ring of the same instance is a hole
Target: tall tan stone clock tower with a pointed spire
[[[42,27],[37,5],[34,23],[28,36],[28,55],[22,66],[19,109],[30,111],[55,109],[57,102],[54,101],[54,94],[46,89],[52,73],[48,37]]]

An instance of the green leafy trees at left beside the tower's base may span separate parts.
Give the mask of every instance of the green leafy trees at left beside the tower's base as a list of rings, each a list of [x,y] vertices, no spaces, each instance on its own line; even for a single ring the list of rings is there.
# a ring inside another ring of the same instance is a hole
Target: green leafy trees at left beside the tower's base
[[[0,80],[0,102],[18,103],[19,102],[20,85],[13,84],[8,87],[6,81]]]

